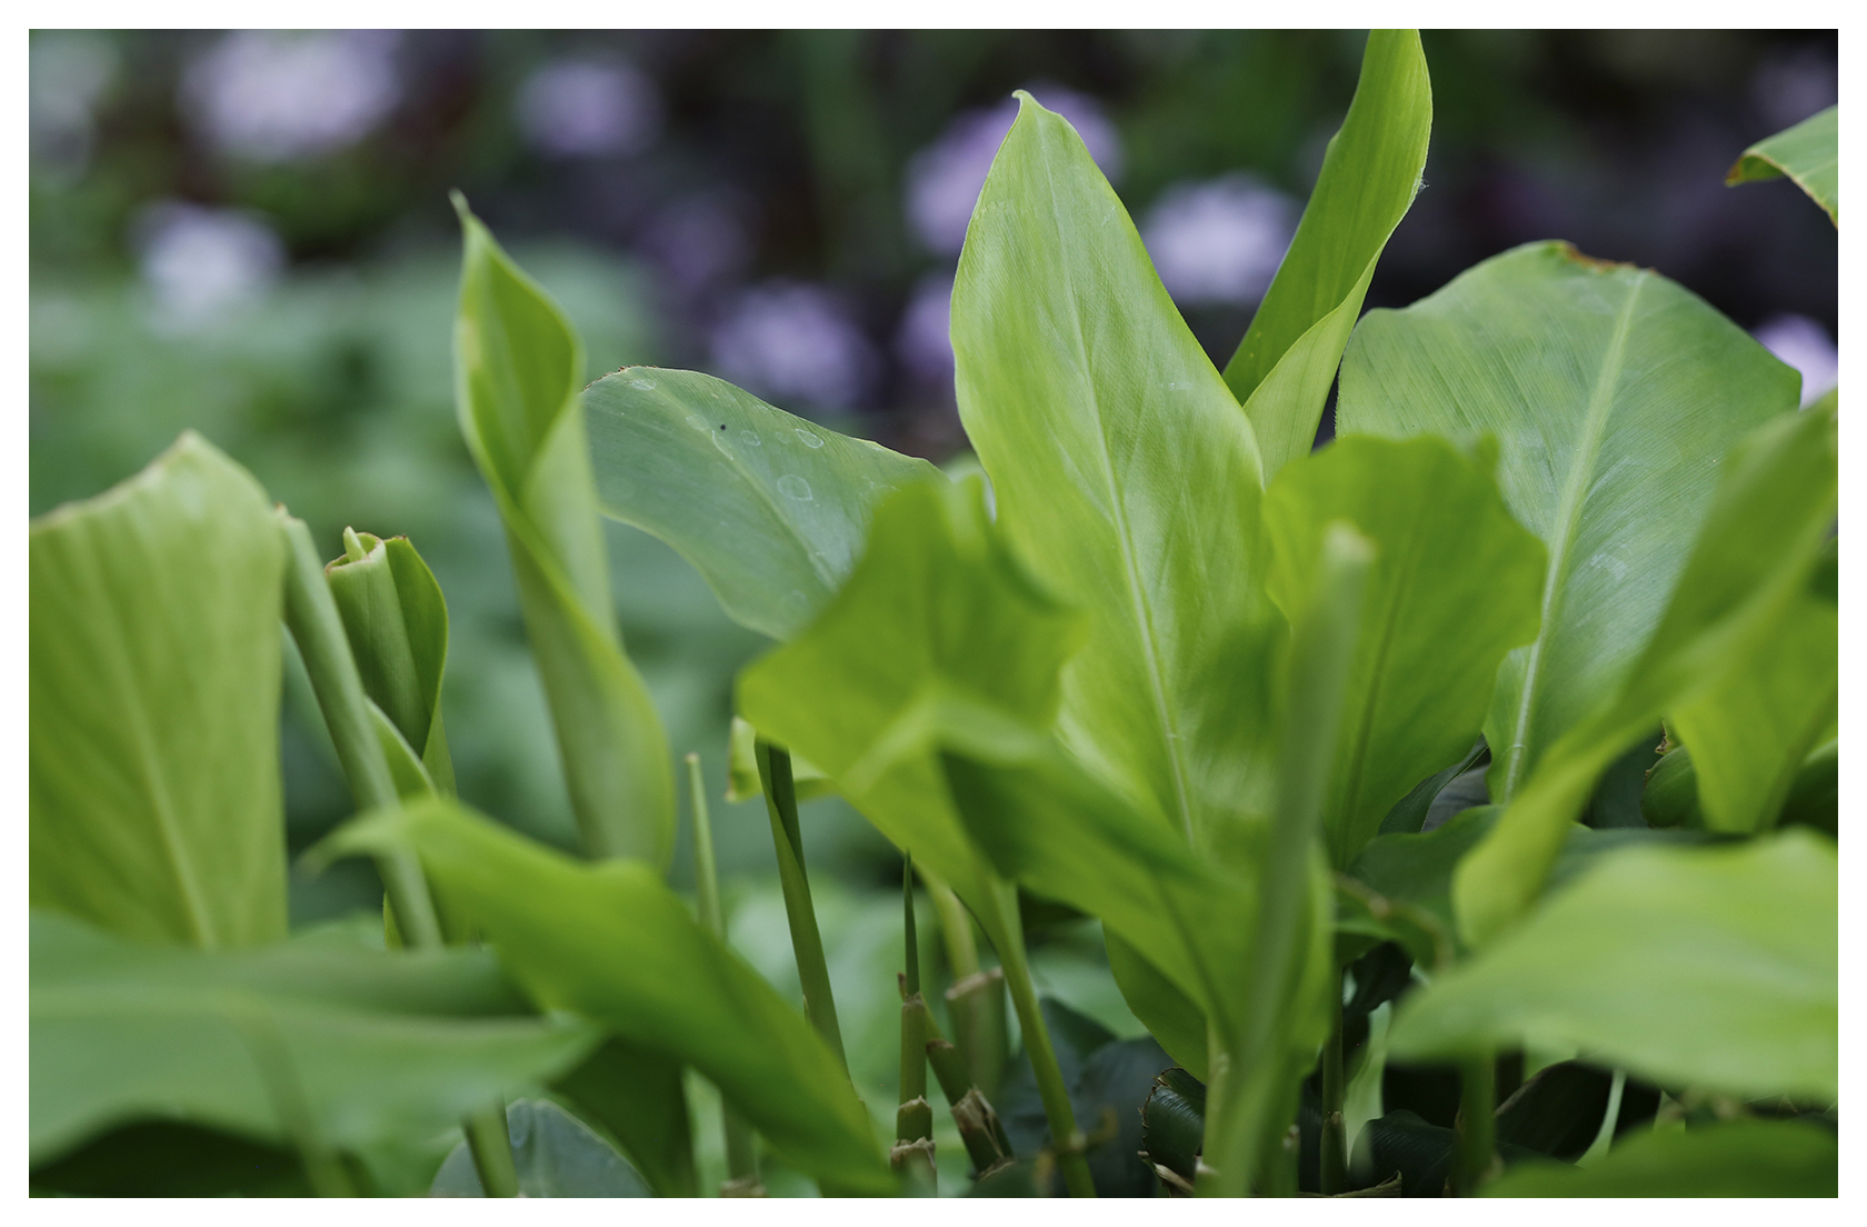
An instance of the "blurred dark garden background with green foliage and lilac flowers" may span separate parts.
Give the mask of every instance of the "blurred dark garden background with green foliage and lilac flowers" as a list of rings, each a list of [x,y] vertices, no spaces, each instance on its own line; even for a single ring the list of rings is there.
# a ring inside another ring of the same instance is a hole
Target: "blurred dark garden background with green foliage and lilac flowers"
[[[344,525],[409,534],[452,614],[463,797],[571,846],[498,517],[454,422],[448,189],[560,299],[592,377],[698,368],[945,461],[965,444],[948,291],[1012,90],[1075,123],[1223,364],[1348,106],[1361,41],[37,32],[32,510],[105,489],[194,428],[330,557]],[[1369,306],[1570,239],[1697,291],[1802,368],[1805,396],[1833,385],[1833,226],[1789,183],[1723,185],[1748,144],[1835,101],[1833,32],[1441,32],[1425,47],[1426,187]],[[764,642],[667,547],[609,530],[629,652],[674,749],[706,756],[732,938],[795,992],[762,805],[719,801],[732,676]],[[295,663],[282,726],[297,852],[349,801]],[[835,799],[805,824],[857,1081],[885,1106],[900,861]],[[674,876],[691,881],[685,831]],[[358,863],[293,876],[299,923],[375,898]],[[1137,1035],[1094,924],[1031,921],[1040,986]]]

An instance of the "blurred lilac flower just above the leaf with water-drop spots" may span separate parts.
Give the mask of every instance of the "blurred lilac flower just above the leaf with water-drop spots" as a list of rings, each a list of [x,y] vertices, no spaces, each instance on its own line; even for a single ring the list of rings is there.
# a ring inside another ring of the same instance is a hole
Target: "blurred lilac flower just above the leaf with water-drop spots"
[[[876,355],[833,293],[767,282],[743,291],[713,329],[713,366],[779,403],[851,409],[874,379]]]

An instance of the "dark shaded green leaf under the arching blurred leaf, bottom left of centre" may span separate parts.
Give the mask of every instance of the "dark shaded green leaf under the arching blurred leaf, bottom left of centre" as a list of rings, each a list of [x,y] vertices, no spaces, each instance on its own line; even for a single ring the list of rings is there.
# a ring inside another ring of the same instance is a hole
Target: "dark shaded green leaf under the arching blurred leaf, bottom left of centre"
[[[609,1037],[551,1089],[609,1132],[657,1197],[698,1197],[681,1070],[667,1053]]]

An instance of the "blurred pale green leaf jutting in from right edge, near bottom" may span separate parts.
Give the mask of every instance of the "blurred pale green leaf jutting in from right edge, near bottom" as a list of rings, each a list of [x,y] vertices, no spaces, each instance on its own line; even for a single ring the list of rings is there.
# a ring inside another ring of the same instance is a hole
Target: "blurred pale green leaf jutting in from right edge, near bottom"
[[[1389,1053],[1574,1048],[1662,1085],[1837,1093],[1835,848],[1630,848],[1400,1005]]]

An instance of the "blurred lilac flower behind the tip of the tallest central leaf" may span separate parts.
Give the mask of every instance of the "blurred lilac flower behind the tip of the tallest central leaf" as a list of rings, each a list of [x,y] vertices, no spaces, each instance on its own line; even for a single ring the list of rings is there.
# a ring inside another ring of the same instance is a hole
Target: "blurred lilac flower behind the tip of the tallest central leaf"
[[[1092,97],[1060,86],[1031,86],[1031,95],[1075,127],[1103,176],[1111,181],[1120,177],[1122,140]],[[930,250],[960,254],[978,189],[986,187],[991,159],[1016,118],[1018,99],[960,112],[939,140],[907,164],[907,220]]]

